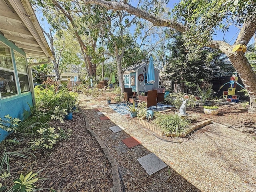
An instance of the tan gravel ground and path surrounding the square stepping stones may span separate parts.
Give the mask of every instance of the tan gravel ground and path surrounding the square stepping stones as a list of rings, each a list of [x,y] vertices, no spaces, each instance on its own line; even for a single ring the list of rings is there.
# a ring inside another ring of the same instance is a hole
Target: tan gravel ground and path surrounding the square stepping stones
[[[244,118],[248,113],[228,114],[230,118],[226,121],[231,123],[223,122],[222,114],[214,117],[214,122],[218,123],[201,128],[193,138],[173,138],[167,142],[138,124],[137,118],[114,112],[106,100],[79,96],[90,128],[100,136],[118,164],[124,191],[256,192],[256,135],[244,131],[241,124],[232,123],[232,117],[237,122],[239,117]],[[99,116],[95,108],[107,112],[110,120],[101,121],[99,117],[104,115]],[[248,128],[254,128],[256,115],[248,117]],[[108,129],[116,124],[125,130],[114,134]],[[121,140],[129,136],[136,137],[142,144],[128,149]],[[137,159],[151,152],[168,167],[148,176]]]

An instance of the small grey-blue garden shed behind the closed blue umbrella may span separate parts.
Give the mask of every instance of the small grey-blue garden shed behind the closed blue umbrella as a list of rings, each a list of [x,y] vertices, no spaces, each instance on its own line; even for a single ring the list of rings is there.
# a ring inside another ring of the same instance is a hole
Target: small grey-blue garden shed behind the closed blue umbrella
[[[129,66],[124,72],[124,87],[132,88],[133,91],[140,94],[141,92],[147,92],[148,90],[157,89],[159,87],[159,73],[160,70],[154,67],[155,80],[154,84],[148,84],[147,74],[148,64],[142,62]]]

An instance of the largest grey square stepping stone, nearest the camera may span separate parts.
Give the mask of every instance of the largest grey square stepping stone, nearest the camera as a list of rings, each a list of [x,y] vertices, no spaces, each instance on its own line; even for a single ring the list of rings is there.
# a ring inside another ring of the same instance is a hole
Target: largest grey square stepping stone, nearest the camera
[[[158,172],[162,168],[167,167],[167,165],[154,153],[150,153],[144,157],[138,158],[138,162],[146,170],[148,175],[152,175],[153,173]]]

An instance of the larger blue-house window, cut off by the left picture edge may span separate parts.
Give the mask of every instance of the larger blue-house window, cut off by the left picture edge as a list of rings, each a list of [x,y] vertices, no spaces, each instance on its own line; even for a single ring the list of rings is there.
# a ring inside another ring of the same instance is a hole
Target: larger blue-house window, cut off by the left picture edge
[[[0,93],[1,97],[17,94],[10,48],[0,42]]]

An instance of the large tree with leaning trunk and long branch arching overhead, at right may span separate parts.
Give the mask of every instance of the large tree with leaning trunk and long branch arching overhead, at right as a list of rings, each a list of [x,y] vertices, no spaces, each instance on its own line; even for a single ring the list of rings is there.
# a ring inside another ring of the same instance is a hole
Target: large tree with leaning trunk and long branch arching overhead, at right
[[[190,45],[195,43],[200,46],[217,48],[228,56],[248,89],[252,104],[250,111],[256,110],[256,74],[243,52],[232,52],[234,46],[240,44],[242,40],[246,41],[247,45],[256,32],[256,2],[254,0],[181,0],[174,10],[175,20],[156,17],[150,12],[123,2],[106,0],[84,0],[84,2],[85,4],[98,4],[112,10],[125,10],[154,25],[174,28],[186,35]],[[184,25],[184,21],[190,25]],[[234,44],[213,40],[212,35],[216,28],[226,31],[232,22],[242,26]],[[195,48],[198,49],[198,46]]]

